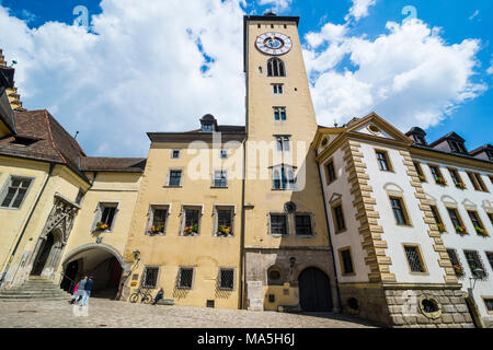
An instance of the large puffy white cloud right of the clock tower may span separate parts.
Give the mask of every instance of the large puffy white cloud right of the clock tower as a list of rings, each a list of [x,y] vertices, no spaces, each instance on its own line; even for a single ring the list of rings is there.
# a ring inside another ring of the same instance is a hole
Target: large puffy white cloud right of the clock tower
[[[420,20],[389,22],[388,33],[375,40],[307,34],[303,50],[312,82],[318,122],[346,122],[375,110],[402,130],[437,125],[461,103],[481,94],[486,85],[474,83],[477,39],[448,45],[438,28]],[[329,45],[316,50],[321,42]],[[348,58],[352,71],[337,66]]]

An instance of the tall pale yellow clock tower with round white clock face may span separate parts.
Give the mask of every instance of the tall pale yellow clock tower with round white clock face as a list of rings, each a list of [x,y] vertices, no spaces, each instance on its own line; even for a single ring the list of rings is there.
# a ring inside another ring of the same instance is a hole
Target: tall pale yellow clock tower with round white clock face
[[[297,16],[244,18],[244,306],[336,311]]]

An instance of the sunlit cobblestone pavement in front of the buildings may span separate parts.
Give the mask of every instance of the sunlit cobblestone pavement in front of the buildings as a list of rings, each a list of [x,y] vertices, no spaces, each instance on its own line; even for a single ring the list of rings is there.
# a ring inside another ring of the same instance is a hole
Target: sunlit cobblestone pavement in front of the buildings
[[[0,302],[0,328],[362,328],[339,314],[285,314],[191,306],[130,304],[91,299],[88,316],[66,301]],[[76,306],[78,307],[78,306]]]

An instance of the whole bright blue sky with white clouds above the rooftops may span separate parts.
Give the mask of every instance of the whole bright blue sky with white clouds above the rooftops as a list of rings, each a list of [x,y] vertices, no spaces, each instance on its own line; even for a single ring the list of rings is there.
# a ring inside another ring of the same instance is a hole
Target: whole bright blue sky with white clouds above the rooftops
[[[89,10],[89,33],[72,26],[76,5]],[[404,26],[410,5],[417,22]],[[19,61],[24,106],[47,108],[70,133],[80,131],[91,155],[145,156],[145,131],[196,128],[206,113],[243,124],[241,16],[270,9],[301,18],[319,124],[376,110],[402,131],[425,127],[428,141],[452,130],[470,150],[493,141],[493,1],[0,0],[0,48]],[[410,59],[410,52],[419,54]]]

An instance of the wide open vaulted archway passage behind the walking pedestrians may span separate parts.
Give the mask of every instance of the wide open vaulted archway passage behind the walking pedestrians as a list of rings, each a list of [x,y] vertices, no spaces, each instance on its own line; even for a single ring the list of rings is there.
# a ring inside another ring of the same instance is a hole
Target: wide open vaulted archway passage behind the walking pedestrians
[[[91,298],[115,299],[122,278],[122,265],[118,258],[108,249],[90,247],[74,255],[64,262],[66,276],[60,287],[70,291],[73,283],[78,283],[84,276],[93,277]],[[72,285],[71,285],[72,284]]]

